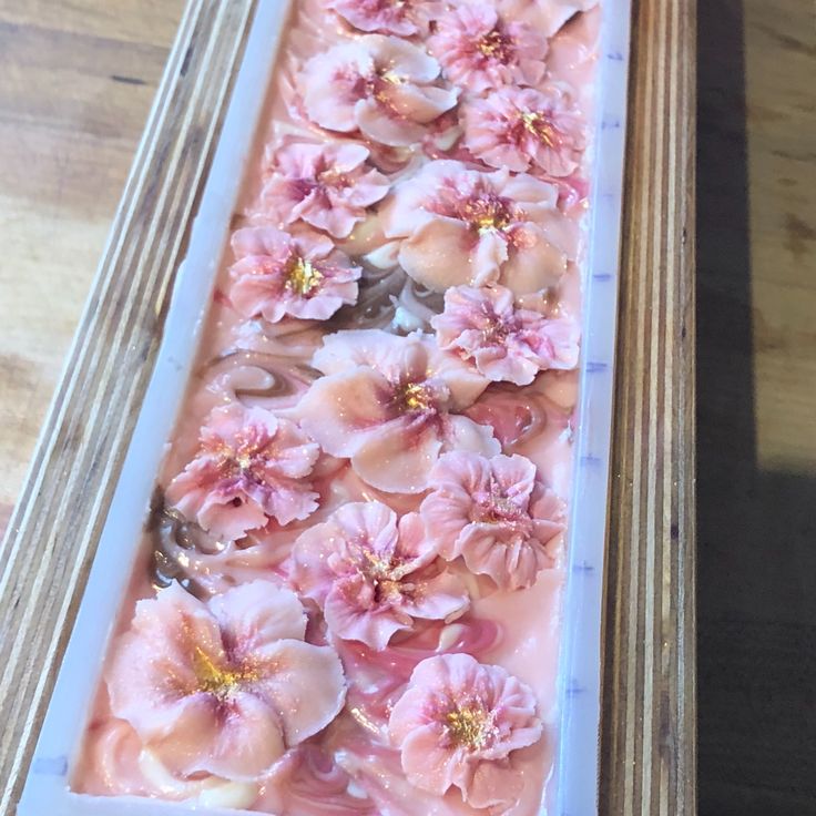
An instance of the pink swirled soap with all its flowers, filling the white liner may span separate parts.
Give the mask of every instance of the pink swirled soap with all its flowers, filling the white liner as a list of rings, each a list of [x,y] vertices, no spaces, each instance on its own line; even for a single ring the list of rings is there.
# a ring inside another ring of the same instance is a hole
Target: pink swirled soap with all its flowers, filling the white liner
[[[74,790],[278,816],[539,813],[591,6],[299,4]]]

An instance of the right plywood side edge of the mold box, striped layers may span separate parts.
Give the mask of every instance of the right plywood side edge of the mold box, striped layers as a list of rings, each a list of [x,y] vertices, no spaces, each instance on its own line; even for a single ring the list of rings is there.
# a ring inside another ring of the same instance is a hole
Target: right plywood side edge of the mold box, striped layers
[[[693,814],[695,4],[635,2],[602,812]]]

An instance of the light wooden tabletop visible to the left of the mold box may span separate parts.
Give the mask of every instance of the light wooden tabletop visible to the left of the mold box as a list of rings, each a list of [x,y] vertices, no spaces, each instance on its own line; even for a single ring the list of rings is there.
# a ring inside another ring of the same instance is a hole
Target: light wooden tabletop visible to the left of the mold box
[[[183,0],[0,0],[0,538]]]

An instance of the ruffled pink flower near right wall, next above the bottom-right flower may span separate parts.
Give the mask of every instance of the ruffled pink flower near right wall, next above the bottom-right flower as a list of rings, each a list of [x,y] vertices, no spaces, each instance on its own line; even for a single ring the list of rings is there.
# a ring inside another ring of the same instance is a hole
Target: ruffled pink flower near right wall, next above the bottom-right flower
[[[430,473],[419,509],[439,554],[502,589],[531,586],[553,565],[547,544],[563,530],[563,507],[523,456],[452,452]]]

